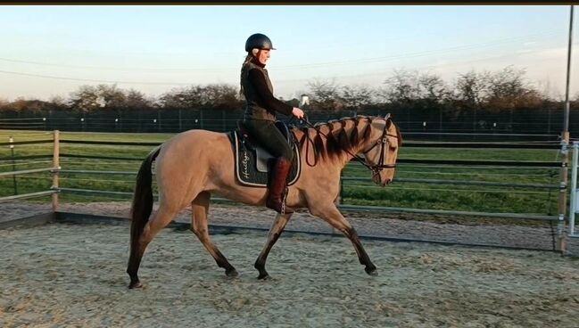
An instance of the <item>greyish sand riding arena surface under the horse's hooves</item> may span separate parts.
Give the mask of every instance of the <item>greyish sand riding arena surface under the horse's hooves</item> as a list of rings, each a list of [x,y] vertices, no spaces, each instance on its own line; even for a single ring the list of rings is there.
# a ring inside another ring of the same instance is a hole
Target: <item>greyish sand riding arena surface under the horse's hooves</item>
[[[128,225],[0,230],[2,327],[575,327],[579,262],[552,252],[282,235],[272,279],[252,264],[265,232],[216,234],[227,278],[189,231],[165,229],[128,290]]]

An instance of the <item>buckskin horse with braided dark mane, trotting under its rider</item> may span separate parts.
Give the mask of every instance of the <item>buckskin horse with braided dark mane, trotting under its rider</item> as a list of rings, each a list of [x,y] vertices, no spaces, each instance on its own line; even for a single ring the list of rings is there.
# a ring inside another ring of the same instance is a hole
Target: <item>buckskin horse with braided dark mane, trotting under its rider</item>
[[[311,215],[332,225],[352,242],[366,273],[377,275],[376,266],[362,247],[356,230],[337,209],[335,200],[340,192],[341,171],[352,159],[360,160],[370,169],[375,184],[385,186],[392,182],[402,140],[399,127],[390,114],[385,117],[358,115],[315,126],[310,124],[310,127],[291,127],[290,131],[299,147],[302,172],[286,189],[285,206],[307,208]],[[265,206],[268,191],[263,187],[239,184],[234,175],[234,160],[227,133],[203,129],[175,135],[145,157],[136,176],[131,205],[128,288],[142,286],[137,272],[147,245],[178,212],[189,206],[192,232],[228,277],[237,275],[236,268],[211,242],[207,219],[211,194],[217,193],[247,205]],[[159,207],[154,213],[153,161],[159,191]],[[265,269],[269,250],[291,216],[291,213],[277,213],[254,264],[259,271],[258,279],[269,278]]]

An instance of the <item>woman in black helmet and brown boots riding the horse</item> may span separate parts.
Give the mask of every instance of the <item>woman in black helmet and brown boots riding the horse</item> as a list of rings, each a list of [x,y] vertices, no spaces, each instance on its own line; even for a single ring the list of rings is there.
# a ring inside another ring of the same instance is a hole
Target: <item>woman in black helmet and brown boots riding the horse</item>
[[[284,135],[275,126],[276,112],[302,119],[303,111],[274,97],[268,70],[265,69],[271,50],[275,48],[269,37],[256,33],[247,38],[245,41],[247,56],[241,67],[239,93],[243,94],[247,101],[244,126],[261,146],[276,157],[266,206],[278,213],[291,213],[291,210],[285,209],[284,193],[294,153],[289,143],[285,141]]]

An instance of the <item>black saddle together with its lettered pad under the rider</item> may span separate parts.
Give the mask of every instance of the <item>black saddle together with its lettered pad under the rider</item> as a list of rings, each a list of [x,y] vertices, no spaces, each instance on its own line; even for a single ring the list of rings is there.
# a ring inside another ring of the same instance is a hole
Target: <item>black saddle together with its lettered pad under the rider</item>
[[[285,141],[290,144],[294,152],[291,172],[287,178],[287,185],[295,184],[300,177],[302,168],[300,167],[299,147],[284,122],[277,121],[276,127],[285,136]],[[235,172],[237,181],[244,185],[267,187],[269,169],[275,157],[254,140],[244,127],[244,122],[237,121],[236,130],[229,134],[233,146],[235,157]]]

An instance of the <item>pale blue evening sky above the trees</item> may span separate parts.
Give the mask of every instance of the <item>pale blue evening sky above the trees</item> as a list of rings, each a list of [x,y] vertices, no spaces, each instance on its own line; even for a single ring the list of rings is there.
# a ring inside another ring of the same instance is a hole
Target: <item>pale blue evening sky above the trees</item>
[[[569,5],[2,5],[0,99],[67,98],[116,84],[149,96],[239,85],[244,44],[266,34],[274,94],[313,81],[383,86],[394,70],[448,83],[470,70],[525,70],[564,97]],[[579,92],[575,6],[571,95]]]

